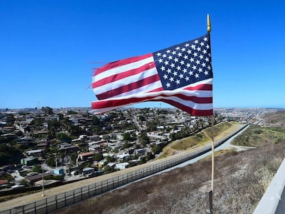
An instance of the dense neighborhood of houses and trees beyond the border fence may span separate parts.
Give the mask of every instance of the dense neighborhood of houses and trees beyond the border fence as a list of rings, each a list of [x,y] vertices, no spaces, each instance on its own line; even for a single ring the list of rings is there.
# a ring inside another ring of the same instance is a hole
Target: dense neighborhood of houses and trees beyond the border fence
[[[215,109],[214,123],[249,122],[270,109]],[[0,109],[0,191],[64,183],[158,158],[171,141],[209,127],[179,109]]]

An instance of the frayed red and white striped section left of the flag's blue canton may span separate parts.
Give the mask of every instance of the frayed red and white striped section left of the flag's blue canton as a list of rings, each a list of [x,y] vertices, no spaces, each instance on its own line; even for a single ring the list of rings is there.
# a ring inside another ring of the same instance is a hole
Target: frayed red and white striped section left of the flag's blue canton
[[[162,90],[152,54],[99,67],[93,76],[92,87],[98,100]]]

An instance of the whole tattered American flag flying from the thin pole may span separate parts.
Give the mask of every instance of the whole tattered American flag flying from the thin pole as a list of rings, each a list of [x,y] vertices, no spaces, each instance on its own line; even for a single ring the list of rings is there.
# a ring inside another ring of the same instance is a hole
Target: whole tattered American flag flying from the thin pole
[[[125,58],[95,70],[95,114],[162,101],[193,116],[213,115],[210,35],[158,52]]]

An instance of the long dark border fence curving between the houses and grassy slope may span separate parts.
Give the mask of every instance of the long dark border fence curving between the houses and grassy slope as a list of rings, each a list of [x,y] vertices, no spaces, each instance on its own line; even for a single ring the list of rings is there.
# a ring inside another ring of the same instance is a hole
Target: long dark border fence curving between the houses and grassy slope
[[[226,140],[234,136],[236,133],[244,129],[247,125],[242,125],[240,129],[237,129],[233,133],[228,136],[222,138],[215,142],[215,147],[222,145]],[[100,195],[102,193],[106,193],[107,191],[111,191],[113,189],[118,188],[119,186],[123,186],[125,184],[129,184],[130,182],[134,182],[135,180],[139,180],[140,178],[145,178],[148,175],[152,175],[159,171],[163,171],[165,169],[169,169],[174,167],[182,162],[186,162],[187,160],[191,160],[196,158],[204,153],[211,151],[211,145],[208,147],[204,147],[195,152],[183,154],[180,156],[166,158],[166,160],[161,160],[161,162],[157,164],[153,164],[149,167],[145,167],[143,169],[138,169],[134,171],[130,171],[123,175],[116,175],[113,178],[109,178],[107,180],[103,180],[101,182],[95,182],[94,184],[89,184],[87,186],[82,186],[81,188],[74,189],[72,191],[67,191],[65,193],[61,193],[58,195],[45,197],[42,200],[37,200],[30,204],[25,204],[23,206],[17,206],[14,208],[10,208],[6,211],[0,211],[2,214],[14,214],[14,213],[50,213],[55,211],[56,209],[63,208],[65,206],[70,206],[75,204],[76,202],[81,202],[89,197],[93,197],[95,195]]]

